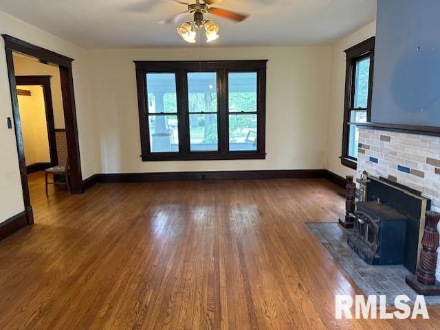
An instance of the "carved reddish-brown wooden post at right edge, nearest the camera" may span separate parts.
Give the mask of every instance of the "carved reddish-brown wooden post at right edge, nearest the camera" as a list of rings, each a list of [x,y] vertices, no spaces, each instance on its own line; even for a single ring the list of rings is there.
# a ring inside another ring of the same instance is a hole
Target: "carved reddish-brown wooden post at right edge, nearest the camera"
[[[440,213],[434,211],[426,212],[428,225],[423,232],[419,267],[416,276],[406,276],[406,283],[418,294],[433,296],[440,294],[440,283],[435,280],[437,268],[437,249],[439,248],[439,231],[437,224],[440,220]]]

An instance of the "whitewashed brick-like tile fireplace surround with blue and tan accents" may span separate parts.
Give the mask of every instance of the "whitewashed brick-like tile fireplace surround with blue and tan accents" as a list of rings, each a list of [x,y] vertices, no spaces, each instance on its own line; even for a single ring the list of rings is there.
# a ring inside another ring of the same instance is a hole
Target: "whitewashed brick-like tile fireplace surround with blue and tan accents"
[[[440,137],[360,126],[358,178],[364,171],[421,191],[440,211]]]

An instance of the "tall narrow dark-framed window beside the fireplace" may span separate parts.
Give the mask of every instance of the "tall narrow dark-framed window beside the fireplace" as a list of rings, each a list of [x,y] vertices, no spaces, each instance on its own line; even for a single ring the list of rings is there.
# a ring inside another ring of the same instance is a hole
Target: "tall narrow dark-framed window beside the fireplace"
[[[370,121],[373,86],[375,38],[369,38],[345,51],[347,71],[345,80],[344,128],[342,164],[356,168],[359,132],[355,123]]]

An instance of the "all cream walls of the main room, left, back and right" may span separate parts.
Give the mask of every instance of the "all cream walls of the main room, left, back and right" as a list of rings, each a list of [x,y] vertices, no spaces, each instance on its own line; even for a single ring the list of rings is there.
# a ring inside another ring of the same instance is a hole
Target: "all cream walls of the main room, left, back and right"
[[[374,34],[364,27],[333,47],[86,50],[0,12],[0,33],[72,57],[83,178],[96,173],[245,169],[319,169],[340,175],[343,50]],[[3,49],[3,39],[0,40]],[[268,59],[267,159],[142,162],[133,60]],[[28,74],[28,73],[26,73]],[[5,55],[0,51],[0,116],[12,117]],[[23,211],[14,130],[0,125],[0,222]]]

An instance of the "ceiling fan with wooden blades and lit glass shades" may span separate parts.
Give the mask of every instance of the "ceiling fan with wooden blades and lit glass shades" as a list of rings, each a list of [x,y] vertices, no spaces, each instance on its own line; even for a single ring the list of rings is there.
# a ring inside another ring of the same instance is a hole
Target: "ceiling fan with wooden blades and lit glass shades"
[[[159,23],[177,23],[181,16],[186,14],[193,14],[194,20],[183,23],[177,28],[177,33],[179,36],[184,38],[188,43],[195,43],[195,37],[197,35],[197,30],[205,28],[205,34],[208,43],[219,38],[219,25],[215,24],[213,21],[206,20],[204,14],[213,14],[216,16],[221,16],[225,19],[230,19],[231,21],[241,22],[248,18],[248,14],[240,14],[238,12],[232,12],[230,10],[220,9],[217,7],[212,7],[211,5],[221,2],[222,0],[195,0],[195,3],[188,3],[181,0],[168,0],[181,5],[187,5],[188,9],[184,12],[179,12],[173,16],[168,17],[159,21]]]

